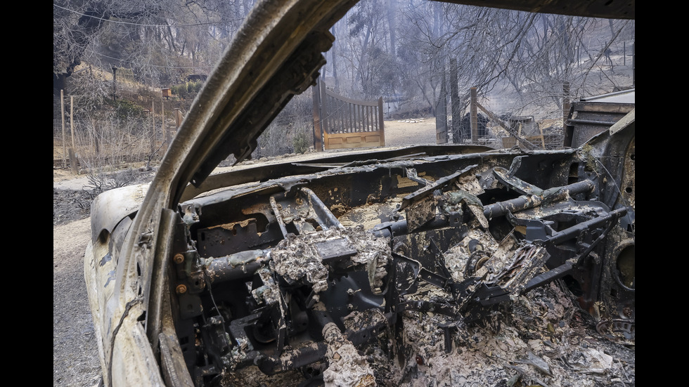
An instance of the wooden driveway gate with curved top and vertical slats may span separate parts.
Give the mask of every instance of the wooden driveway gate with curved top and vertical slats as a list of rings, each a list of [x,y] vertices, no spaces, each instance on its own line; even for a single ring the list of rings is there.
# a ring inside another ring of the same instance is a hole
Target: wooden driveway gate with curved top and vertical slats
[[[322,79],[314,86],[313,95],[316,151],[385,146],[382,97],[363,101],[338,96]]]

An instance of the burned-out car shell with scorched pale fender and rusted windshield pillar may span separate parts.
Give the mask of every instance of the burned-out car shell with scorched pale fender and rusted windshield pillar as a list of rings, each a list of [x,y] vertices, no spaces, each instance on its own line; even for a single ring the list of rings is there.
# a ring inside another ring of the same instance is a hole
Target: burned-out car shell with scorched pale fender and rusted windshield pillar
[[[373,386],[357,348],[424,361],[409,313],[443,316],[449,352],[555,281],[601,335],[633,342],[633,112],[565,150],[384,148],[211,174],[314,83],[353,4],[259,1],[153,182],[96,198],[84,271],[105,385]]]

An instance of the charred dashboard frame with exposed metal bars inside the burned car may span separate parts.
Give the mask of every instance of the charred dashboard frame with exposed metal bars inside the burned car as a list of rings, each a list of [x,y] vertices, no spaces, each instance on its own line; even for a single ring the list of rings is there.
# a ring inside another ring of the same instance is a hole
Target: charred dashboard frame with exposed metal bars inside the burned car
[[[183,203],[170,281],[188,368],[199,383],[304,367],[324,358],[330,324],[356,346],[405,310],[451,317],[450,343],[450,327],[555,279],[601,334],[633,340],[633,197],[600,174],[630,161],[590,157],[371,159]]]

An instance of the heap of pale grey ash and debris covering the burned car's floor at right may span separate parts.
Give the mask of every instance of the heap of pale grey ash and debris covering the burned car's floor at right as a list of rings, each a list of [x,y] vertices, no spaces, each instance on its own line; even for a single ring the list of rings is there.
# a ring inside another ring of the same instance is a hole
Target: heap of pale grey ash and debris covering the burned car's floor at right
[[[634,344],[608,340],[584,316],[553,282],[453,329],[448,351],[448,317],[407,311],[402,341],[388,343],[397,359],[369,348],[369,360],[378,386],[635,386]]]

